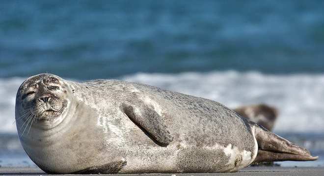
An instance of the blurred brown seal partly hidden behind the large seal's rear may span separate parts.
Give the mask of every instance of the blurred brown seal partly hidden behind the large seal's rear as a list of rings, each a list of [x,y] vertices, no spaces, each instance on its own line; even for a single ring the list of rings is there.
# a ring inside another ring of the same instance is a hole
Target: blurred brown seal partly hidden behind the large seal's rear
[[[234,109],[234,111],[269,131],[272,131],[278,116],[278,110],[266,104],[242,106]]]

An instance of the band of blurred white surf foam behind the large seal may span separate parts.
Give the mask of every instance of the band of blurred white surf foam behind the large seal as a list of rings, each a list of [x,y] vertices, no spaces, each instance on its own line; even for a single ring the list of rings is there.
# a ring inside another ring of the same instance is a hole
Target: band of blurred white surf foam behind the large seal
[[[120,79],[209,98],[230,108],[266,103],[279,109],[276,132],[324,132],[324,74],[213,71],[137,73]],[[23,80],[0,79],[0,132],[16,132],[15,96]]]

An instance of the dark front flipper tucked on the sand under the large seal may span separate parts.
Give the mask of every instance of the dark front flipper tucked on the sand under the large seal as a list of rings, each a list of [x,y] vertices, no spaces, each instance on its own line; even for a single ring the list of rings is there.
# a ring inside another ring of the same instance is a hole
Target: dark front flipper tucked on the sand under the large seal
[[[122,159],[101,166],[93,166],[72,174],[117,174],[126,164],[127,161]]]

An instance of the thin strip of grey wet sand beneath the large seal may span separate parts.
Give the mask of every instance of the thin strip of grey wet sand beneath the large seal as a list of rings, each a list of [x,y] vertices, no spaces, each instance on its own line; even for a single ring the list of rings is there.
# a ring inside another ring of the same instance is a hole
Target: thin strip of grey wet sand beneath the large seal
[[[46,175],[38,168],[2,167],[1,176]],[[118,176],[324,176],[324,167],[249,167],[237,173],[195,173],[195,174],[120,174]],[[61,175],[62,176],[62,175]]]

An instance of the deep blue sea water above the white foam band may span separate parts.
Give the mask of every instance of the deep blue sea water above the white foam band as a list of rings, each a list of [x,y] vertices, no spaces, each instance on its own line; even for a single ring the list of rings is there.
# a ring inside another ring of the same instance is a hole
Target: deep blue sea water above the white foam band
[[[324,71],[323,0],[8,0],[0,77]]]

